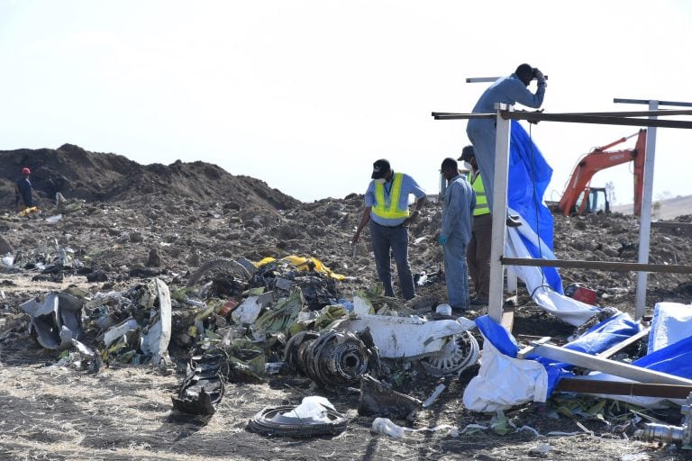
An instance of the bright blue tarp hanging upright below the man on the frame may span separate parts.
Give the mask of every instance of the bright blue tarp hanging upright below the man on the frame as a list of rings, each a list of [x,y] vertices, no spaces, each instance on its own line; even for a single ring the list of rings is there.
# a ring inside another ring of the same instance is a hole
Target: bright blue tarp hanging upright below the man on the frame
[[[513,120],[509,140],[509,177],[507,204],[518,212],[524,221],[552,252],[552,213],[543,203],[543,194],[551,182],[552,168],[545,161],[541,150],[533,143],[522,125]],[[521,236],[524,246],[533,258],[545,258],[542,251],[530,240]],[[563,294],[562,280],[555,267],[541,267],[545,282],[556,293]]]

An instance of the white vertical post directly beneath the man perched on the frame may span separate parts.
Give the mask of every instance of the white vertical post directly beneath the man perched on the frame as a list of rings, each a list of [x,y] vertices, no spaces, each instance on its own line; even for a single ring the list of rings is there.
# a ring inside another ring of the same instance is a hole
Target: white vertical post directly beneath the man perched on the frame
[[[490,293],[487,313],[497,323],[503,323],[504,270],[500,259],[505,253],[505,225],[507,218],[507,177],[509,171],[510,120],[500,116],[499,110],[512,110],[505,104],[496,104],[495,182],[493,192],[493,229],[490,248]],[[512,328],[512,319],[509,325]]]

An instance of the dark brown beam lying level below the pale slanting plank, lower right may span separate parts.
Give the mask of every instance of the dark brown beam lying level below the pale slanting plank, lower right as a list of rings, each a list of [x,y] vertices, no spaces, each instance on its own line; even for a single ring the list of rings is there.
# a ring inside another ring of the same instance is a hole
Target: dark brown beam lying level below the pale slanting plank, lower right
[[[639,395],[664,399],[686,399],[692,385],[622,383],[583,378],[562,378],[555,386],[561,393],[605,393],[610,395]]]

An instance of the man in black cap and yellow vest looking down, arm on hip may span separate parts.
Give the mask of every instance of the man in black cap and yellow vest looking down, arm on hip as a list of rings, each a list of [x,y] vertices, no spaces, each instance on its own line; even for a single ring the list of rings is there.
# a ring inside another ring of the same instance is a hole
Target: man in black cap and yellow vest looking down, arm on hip
[[[358,243],[360,232],[369,223],[372,250],[378,278],[385,295],[394,297],[390,253],[394,255],[399,286],[406,300],[415,296],[414,276],[408,263],[408,225],[420,214],[426,201],[423,188],[414,178],[395,173],[381,158],[373,164],[372,179],[365,193],[365,208],[351,245]],[[408,196],[415,197],[415,209],[409,211]]]

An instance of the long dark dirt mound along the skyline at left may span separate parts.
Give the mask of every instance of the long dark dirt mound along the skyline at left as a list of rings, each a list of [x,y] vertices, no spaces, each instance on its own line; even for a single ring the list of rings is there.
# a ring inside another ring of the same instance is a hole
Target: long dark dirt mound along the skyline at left
[[[140,165],[122,155],[89,152],[73,144],[58,149],[0,150],[0,193],[12,209],[14,180],[23,167],[32,170],[32,185],[45,208],[55,194],[87,202],[127,201],[161,196],[194,203],[225,203],[231,208],[251,204],[269,210],[284,210],[299,201],[250,176],[233,176],[213,164],[183,163],[168,166]]]

